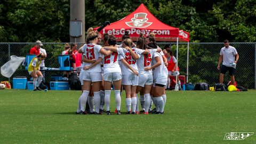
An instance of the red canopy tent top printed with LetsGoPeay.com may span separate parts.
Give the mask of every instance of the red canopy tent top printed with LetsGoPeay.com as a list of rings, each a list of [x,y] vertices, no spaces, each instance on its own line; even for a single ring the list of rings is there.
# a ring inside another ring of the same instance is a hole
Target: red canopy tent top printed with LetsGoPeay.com
[[[94,28],[96,30],[97,28]],[[122,41],[124,31],[129,31],[130,37],[136,41],[140,33],[148,36],[151,32],[155,33],[156,41],[177,41],[189,42],[189,33],[179,28],[165,25],[151,14],[147,7],[141,4],[134,12],[127,15],[125,18],[110,23],[105,27],[101,34],[115,35],[117,41]]]

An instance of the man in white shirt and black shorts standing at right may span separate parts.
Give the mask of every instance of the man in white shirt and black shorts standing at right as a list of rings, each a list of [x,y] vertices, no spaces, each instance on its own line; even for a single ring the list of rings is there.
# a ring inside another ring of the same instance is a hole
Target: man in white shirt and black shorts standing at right
[[[239,59],[239,55],[235,49],[235,47],[230,46],[228,40],[224,41],[224,46],[220,50],[220,58],[217,69],[220,70],[220,83],[223,83],[224,75],[226,72],[229,72],[231,84],[235,84],[235,70],[236,63]],[[236,57],[236,59],[235,59]],[[222,62],[223,60],[223,62]],[[220,63],[222,62],[222,66],[220,69]]]

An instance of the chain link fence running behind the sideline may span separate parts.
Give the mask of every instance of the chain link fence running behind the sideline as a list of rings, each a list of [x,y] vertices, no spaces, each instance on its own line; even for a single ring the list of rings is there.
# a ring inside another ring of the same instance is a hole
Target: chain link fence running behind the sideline
[[[45,67],[58,68],[58,55],[61,54],[66,43],[43,44],[47,53]],[[78,47],[82,44],[78,43]],[[158,46],[164,47],[166,44],[171,46],[171,50],[176,57],[176,43],[158,43]],[[237,84],[248,89],[256,89],[256,43],[230,43],[230,45],[234,46],[239,54],[235,75]],[[33,46],[34,43],[0,43],[0,66],[9,61],[11,55],[26,57]],[[186,75],[187,71],[187,47],[188,43],[179,43],[178,65],[181,75]],[[206,82],[210,86],[219,83],[220,71],[217,69],[217,65],[221,47],[223,47],[223,43],[189,43],[188,82],[194,84]],[[45,79],[47,82],[50,82],[53,73],[60,72],[46,72]],[[20,66],[11,78],[0,75],[0,81],[10,81],[12,83],[12,78],[15,76],[29,77],[25,67]],[[227,84],[229,81],[230,77],[226,74],[223,83]]]

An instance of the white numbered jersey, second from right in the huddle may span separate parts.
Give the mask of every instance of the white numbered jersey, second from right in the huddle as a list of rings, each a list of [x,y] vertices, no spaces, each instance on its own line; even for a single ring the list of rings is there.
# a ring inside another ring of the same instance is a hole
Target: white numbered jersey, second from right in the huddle
[[[141,54],[141,57],[137,60],[137,66],[139,69],[139,74],[142,75],[152,75],[152,70],[144,70],[146,67],[151,67],[151,60],[153,58],[153,54],[157,51],[157,49],[148,49],[148,54]]]

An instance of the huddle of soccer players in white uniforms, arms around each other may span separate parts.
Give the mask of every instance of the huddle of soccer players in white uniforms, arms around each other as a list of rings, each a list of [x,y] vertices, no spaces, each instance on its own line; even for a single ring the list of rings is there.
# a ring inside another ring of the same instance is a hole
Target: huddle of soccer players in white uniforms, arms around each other
[[[121,45],[116,45],[113,35],[105,34],[104,44],[101,46],[98,44],[98,31],[105,26],[106,23],[96,31],[89,28],[86,44],[78,50],[83,54],[83,69],[79,74],[83,93],[78,100],[76,113],[85,114],[87,102],[90,114],[102,114],[105,103],[106,114],[110,115],[111,86],[114,85],[117,115],[121,114],[122,89],[126,94],[126,114],[148,114],[153,103],[153,113],[163,114],[166,102],[167,60],[162,49],[157,46],[154,34],[147,37],[140,34],[136,45],[127,31],[122,36]]]

